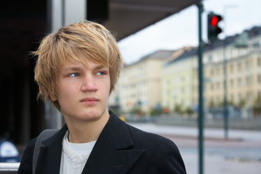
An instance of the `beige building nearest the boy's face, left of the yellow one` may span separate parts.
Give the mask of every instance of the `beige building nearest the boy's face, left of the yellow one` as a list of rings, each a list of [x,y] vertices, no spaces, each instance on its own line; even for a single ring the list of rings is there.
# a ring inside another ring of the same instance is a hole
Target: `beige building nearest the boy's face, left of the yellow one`
[[[149,114],[151,109],[161,107],[163,62],[172,54],[160,50],[124,66],[115,91],[123,112]]]

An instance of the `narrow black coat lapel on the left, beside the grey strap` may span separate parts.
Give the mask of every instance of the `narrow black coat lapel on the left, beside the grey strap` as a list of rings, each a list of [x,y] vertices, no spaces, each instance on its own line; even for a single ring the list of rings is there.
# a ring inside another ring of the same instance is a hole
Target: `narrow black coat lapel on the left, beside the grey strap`
[[[35,174],[60,173],[62,141],[66,131],[65,125],[59,132],[42,142],[44,146],[40,148]]]

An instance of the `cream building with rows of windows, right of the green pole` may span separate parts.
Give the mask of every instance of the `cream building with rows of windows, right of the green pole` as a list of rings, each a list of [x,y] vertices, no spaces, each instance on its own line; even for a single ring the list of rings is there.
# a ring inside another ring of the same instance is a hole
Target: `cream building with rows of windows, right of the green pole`
[[[225,85],[231,105],[251,107],[261,94],[261,47],[253,40],[260,42],[261,35],[249,38],[246,47],[232,42],[204,53],[204,94],[208,106],[222,105]]]

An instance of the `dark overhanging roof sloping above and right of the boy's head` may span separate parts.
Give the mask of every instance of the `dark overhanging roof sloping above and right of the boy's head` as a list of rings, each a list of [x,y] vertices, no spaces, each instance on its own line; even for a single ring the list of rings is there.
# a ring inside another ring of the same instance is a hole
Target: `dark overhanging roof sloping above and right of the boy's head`
[[[108,19],[102,24],[123,39],[200,0],[108,0]]]

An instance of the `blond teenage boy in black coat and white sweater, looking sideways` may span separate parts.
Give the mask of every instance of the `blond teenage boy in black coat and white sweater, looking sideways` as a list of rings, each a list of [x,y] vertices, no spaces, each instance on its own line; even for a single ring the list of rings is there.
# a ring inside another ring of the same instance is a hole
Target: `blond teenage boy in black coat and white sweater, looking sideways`
[[[47,35],[37,51],[38,98],[50,100],[66,124],[24,151],[18,174],[185,174],[175,144],[136,129],[108,111],[109,95],[123,66],[112,34],[83,21]]]

